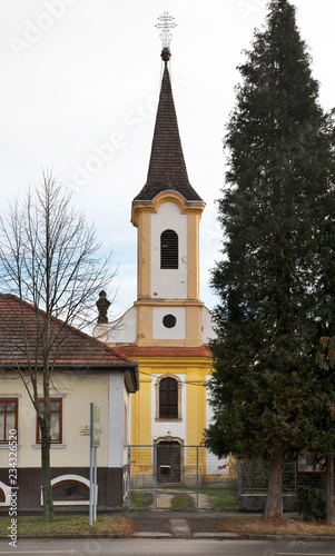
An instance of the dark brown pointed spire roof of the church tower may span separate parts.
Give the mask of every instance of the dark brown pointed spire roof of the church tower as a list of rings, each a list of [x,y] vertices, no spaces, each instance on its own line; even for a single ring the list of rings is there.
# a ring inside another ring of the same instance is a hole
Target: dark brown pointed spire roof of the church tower
[[[147,182],[134,200],[152,200],[156,195],[166,190],[178,191],[189,201],[201,201],[187,176],[167,62],[161,80]]]

